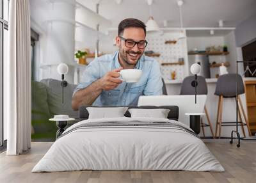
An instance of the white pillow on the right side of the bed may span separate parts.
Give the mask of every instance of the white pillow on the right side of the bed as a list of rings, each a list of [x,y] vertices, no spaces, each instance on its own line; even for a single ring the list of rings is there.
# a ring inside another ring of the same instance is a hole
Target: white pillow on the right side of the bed
[[[167,118],[170,109],[128,109],[131,117]]]

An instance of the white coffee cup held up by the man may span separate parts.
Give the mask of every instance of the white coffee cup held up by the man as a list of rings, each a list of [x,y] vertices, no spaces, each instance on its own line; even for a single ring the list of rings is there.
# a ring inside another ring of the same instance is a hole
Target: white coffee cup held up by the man
[[[120,76],[126,83],[136,83],[140,80],[142,70],[140,69],[123,69],[120,71]]]

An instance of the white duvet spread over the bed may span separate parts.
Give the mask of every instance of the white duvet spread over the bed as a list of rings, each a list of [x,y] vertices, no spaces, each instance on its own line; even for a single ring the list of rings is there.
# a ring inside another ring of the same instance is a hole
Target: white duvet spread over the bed
[[[32,172],[72,170],[225,171],[204,142],[179,128],[111,126],[77,128],[93,122],[170,122],[163,118],[84,120],[57,139]],[[191,130],[191,129],[190,129]]]

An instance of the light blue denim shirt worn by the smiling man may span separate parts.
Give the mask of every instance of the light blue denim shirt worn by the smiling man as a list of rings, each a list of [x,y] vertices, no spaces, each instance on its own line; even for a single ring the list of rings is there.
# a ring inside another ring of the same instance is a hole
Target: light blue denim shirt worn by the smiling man
[[[118,51],[96,58],[84,70],[81,83],[77,85],[74,93],[100,79],[106,72],[120,67]],[[123,81],[114,90],[103,91],[93,102],[93,106],[137,106],[141,95],[163,95],[163,82],[159,63],[156,60],[143,54],[135,68],[143,72],[140,81],[137,83]]]

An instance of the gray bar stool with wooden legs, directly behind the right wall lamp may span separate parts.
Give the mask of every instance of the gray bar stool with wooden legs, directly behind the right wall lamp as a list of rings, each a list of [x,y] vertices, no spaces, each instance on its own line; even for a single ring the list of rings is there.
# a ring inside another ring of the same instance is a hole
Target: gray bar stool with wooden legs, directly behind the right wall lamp
[[[191,82],[195,80],[195,76],[188,76],[185,77],[182,85],[181,85],[181,90],[180,90],[180,95],[195,95],[195,88],[191,85]],[[208,90],[207,90],[207,84],[205,82],[205,78],[203,76],[197,76],[197,87],[196,87],[196,93],[198,95],[207,95]],[[209,113],[207,111],[206,106],[204,106],[204,111],[205,111],[205,116],[207,118],[207,122],[203,123],[201,119],[201,127],[202,127],[202,132],[205,137],[205,132],[204,132],[204,127],[210,127],[212,137],[214,137],[214,132],[212,130],[212,124],[209,118]]]

